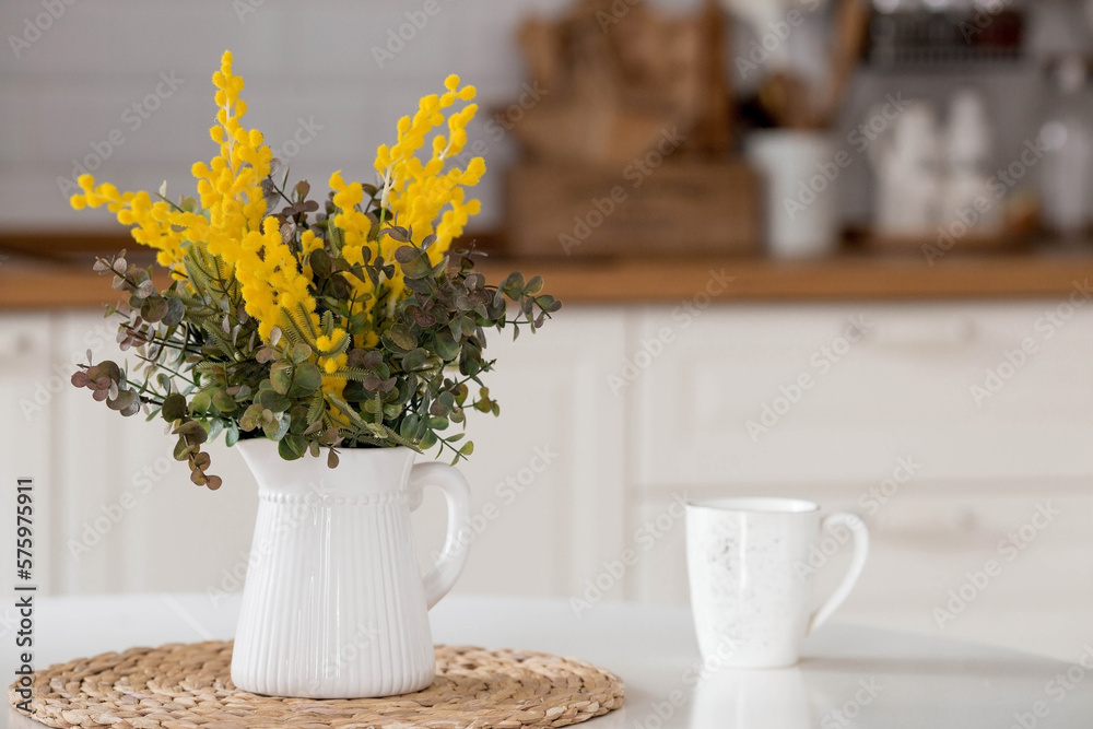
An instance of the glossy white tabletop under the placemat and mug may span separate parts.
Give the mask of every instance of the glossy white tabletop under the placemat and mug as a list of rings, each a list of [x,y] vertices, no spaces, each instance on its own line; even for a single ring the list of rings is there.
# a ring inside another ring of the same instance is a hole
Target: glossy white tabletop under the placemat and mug
[[[138,645],[230,638],[237,611],[237,597],[220,604],[203,595],[39,598],[35,668]],[[834,624],[808,639],[794,669],[706,671],[700,679],[683,609],[603,603],[578,618],[562,600],[454,596],[431,615],[437,643],[544,650],[618,673],[626,683],[625,706],[584,725],[590,729],[1093,727],[1093,647],[1086,669]],[[4,627],[0,668],[12,677],[14,632]],[[40,727],[14,710],[7,722]]]

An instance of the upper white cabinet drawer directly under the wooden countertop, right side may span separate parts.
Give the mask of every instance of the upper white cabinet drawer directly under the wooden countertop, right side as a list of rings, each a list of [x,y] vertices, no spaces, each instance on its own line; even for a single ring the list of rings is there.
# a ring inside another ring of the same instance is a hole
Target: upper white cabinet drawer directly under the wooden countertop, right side
[[[620,371],[636,481],[872,480],[900,456],[930,478],[1093,474],[1093,306],[1065,304],[644,309]]]

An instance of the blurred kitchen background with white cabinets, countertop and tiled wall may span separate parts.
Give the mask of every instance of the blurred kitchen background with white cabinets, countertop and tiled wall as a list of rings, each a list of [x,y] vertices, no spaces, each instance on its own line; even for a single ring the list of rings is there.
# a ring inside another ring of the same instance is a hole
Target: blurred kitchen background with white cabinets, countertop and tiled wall
[[[468,237],[565,308],[491,342],[457,590],[685,603],[679,499],[800,495],[872,529],[845,620],[1093,638],[1093,3],[20,0],[0,27],[0,477],[40,484],[45,590],[242,587],[237,455],[196,489],[67,383],[115,348],[94,252],[134,248],[73,180],[190,192],[230,48],[313,188],[478,86]]]

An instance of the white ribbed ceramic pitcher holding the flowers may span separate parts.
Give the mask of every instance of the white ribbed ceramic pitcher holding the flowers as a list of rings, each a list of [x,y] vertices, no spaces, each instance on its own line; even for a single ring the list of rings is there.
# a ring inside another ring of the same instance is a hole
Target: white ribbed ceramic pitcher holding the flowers
[[[232,655],[232,681],[273,696],[363,698],[433,682],[428,609],[467,556],[470,492],[456,469],[414,466],[409,448],[285,461],[267,439],[236,447],[258,480],[258,521]],[[418,567],[410,512],[424,486],[448,502],[436,566]]]

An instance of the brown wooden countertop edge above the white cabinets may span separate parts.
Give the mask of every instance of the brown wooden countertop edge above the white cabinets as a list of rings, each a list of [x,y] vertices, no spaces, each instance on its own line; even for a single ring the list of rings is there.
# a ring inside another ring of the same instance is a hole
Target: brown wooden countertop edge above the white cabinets
[[[21,255],[0,259],[0,309],[93,307],[116,301],[109,279],[91,271],[90,261],[87,254],[55,261]],[[953,252],[933,266],[915,256],[842,255],[800,262],[491,257],[481,268],[494,281],[512,270],[539,273],[546,293],[571,304],[680,303],[706,294],[718,302],[1055,297],[1093,280],[1093,246],[997,256]]]

